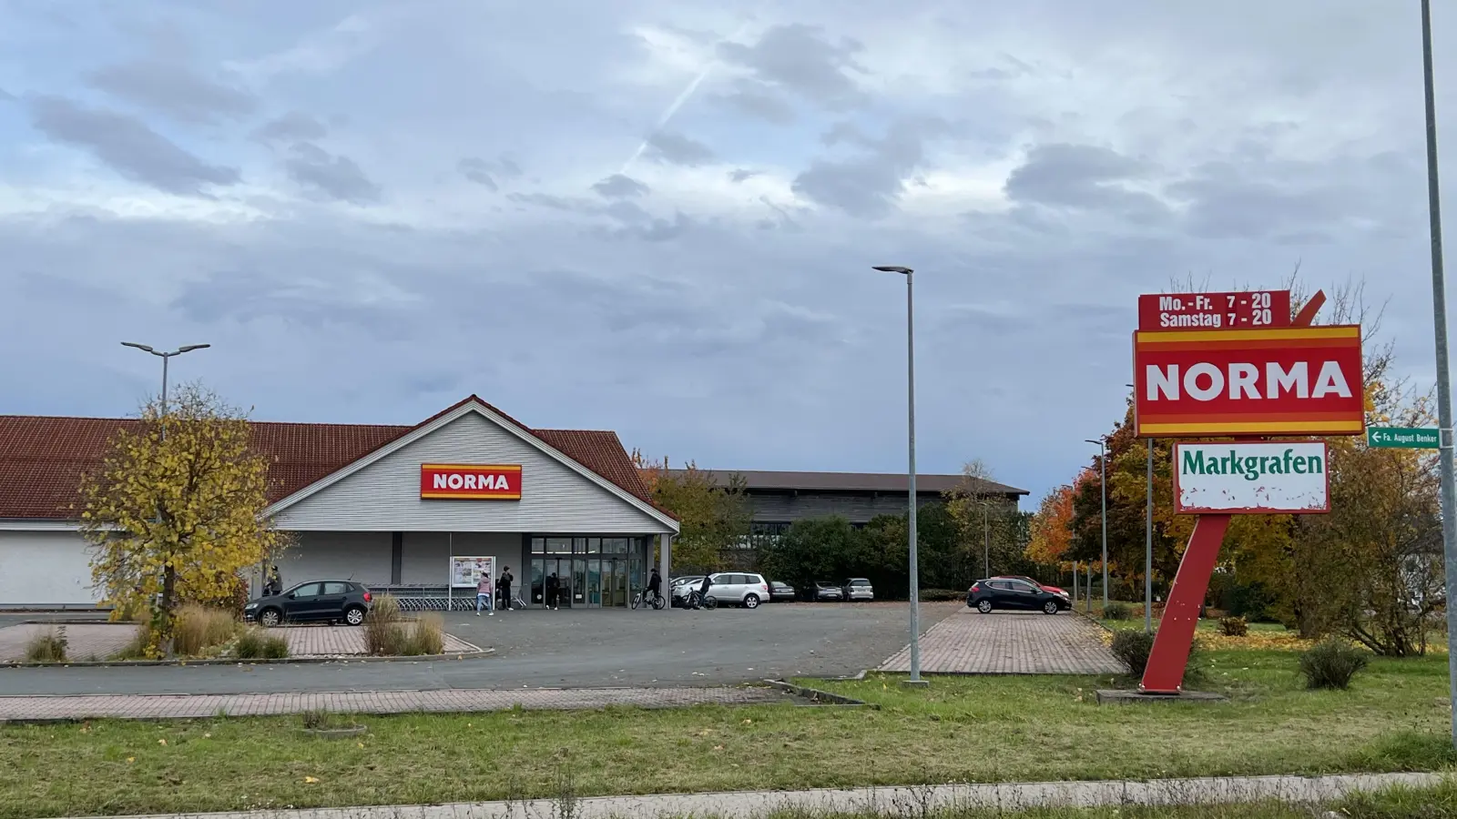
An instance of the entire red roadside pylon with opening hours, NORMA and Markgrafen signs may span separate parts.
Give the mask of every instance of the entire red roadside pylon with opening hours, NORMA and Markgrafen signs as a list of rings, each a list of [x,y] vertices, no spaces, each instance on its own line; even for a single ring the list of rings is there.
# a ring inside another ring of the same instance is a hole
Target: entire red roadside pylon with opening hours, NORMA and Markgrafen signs
[[[1234,439],[1174,447],[1176,512],[1198,517],[1139,691],[1182,691],[1231,514],[1329,510],[1324,443],[1288,439],[1364,434],[1365,385],[1361,328],[1311,326],[1323,302],[1289,319],[1288,290],[1139,297],[1135,434]]]

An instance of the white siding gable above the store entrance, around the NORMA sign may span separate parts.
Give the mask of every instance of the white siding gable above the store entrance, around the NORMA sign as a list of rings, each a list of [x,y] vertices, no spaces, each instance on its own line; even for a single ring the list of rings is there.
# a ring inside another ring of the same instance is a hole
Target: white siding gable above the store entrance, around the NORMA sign
[[[421,500],[421,463],[520,463],[522,500]],[[424,437],[312,494],[280,501],[280,529],[651,535],[673,529],[482,412],[466,408]]]

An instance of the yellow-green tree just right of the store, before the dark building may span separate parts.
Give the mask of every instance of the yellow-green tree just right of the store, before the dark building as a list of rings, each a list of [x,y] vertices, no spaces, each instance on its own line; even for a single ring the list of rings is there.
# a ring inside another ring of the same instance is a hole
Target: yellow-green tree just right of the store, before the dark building
[[[651,461],[632,450],[632,461],[648,485],[653,501],[679,520],[673,541],[673,571],[714,571],[737,552],[749,549],[753,507],[739,474],[726,482],[692,461],[670,469],[667,458]]]

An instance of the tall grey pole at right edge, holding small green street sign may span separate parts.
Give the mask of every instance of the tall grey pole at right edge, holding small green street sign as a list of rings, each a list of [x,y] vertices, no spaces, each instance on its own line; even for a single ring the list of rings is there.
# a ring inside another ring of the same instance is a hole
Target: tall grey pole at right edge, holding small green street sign
[[[1438,463],[1442,493],[1442,558],[1447,599],[1457,600],[1457,484],[1453,475],[1453,391],[1447,363],[1447,283],[1442,275],[1442,204],[1437,176],[1437,98],[1432,87],[1432,4],[1422,0],[1422,82],[1426,90],[1426,208],[1432,235],[1432,329],[1437,342],[1437,424],[1441,428]],[[1457,704],[1457,606],[1447,606],[1448,697]],[[1457,710],[1453,711],[1457,745]]]

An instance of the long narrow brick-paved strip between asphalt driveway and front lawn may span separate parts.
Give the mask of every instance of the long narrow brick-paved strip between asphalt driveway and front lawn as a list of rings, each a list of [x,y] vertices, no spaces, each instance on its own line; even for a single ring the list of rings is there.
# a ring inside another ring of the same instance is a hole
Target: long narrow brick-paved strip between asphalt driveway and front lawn
[[[443,691],[331,691],[224,695],[0,697],[6,720],[186,720],[337,711],[348,714],[584,710],[608,705],[682,708],[785,702],[772,688],[523,688]]]

